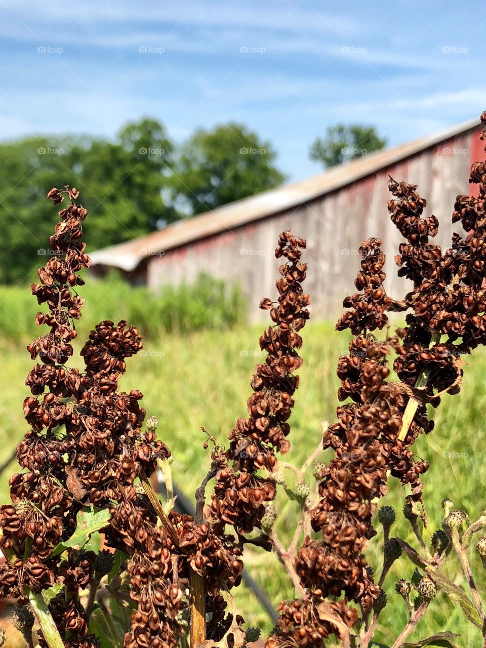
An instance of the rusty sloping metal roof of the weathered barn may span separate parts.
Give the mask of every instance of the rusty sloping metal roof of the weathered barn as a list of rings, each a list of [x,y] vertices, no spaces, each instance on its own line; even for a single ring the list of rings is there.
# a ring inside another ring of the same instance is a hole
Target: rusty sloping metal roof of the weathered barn
[[[97,250],[91,253],[91,260],[93,265],[114,266],[132,272],[145,257],[298,207],[479,125],[478,119],[470,119],[433,135],[369,154],[312,178],[263,191],[200,216],[180,220],[145,237]]]

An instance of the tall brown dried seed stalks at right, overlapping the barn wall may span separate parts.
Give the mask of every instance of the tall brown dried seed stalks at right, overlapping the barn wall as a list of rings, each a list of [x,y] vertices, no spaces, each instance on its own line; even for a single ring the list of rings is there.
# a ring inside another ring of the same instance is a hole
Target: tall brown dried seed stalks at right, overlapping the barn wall
[[[486,125],[486,111],[481,122]],[[486,139],[486,131],[482,138]],[[297,551],[294,566],[305,595],[281,604],[279,627],[268,639],[268,648],[289,641],[318,648],[324,638],[335,634],[329,618],[319,618],[322,597],[344,597],[343,607],[334,611],[347,625],[358,618],[356,609],[349,607],[352,601],[365,613],[386,602],[384,592],[373,583],[363,553],[375,535],[371,524],[375,502],[386,494],[388,471],[410,484],[408,502],[421,498],[420,475],[428,463],[414,459],[411,446],[421,432],[428,434],[434,427],[425,403],[436,406],[437,393],[457,393],[462,376],[460,355],[486,343],[486,163],[472,166],[470,182],[480,185],[478,197],[457,196],[452,216],[453,222],[462,222],[467,236],[454,234],[452,247],[443,253],[429,242],[437,234],[438,221],[435,216],[422,216],[426,202],[416,185],[390,179],[393,198],[388,210],[406,238],[395,262],[399,276],[413,282],[403,301],[394,301],[383,289],[380,241],[369,238],[360,247],[362,270],[355,281],[360,292],[344,300],[349,310],[336,325],[354,334],[349,353],[338,363],[338,398],[345,403],[338,407],[338,421],[323,436],[323,447],[333,448],[335,456],[327,466],[319,467],[318,477],[323,478],[320,501],[311,511],[312,527],[321,531],[322,539],[305,538]],[[387,311],[408,311],[407,326],[397,329],[395,336],[387,333],[380,342],[373,331],[387,325]],[[396,354],[398,382],[388,381],[391,349]],[[417,380],[423,376],[426,386],[417,389]],[[401,435],[410,397],[419,404],[406,434]],[[390,538],[388,553],[394,549],[393,542]],[[401,551],[399,546],[397,551]],[[432,586],[424,584],[424,596],[433,596]]]

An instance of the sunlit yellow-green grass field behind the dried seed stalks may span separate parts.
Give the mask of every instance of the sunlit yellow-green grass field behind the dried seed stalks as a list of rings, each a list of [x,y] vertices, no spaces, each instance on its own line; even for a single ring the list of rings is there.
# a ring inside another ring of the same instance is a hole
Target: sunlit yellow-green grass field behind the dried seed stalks
[[[32,301],[32,297],[30,297]],[[32,327],[32,330],[34,327]],[[209,452],[203,450],[205,436],[200,426],[205,426],[218,442],[224,443],[238,416],[246,414],[246,399],[251,390],[249,377],[259,362],[258,337],[260,328],[237,327],[233,330],[209,330],[189,336],[161,336],[146,344],[143,354],[128,360],[128,373],[122,378],[123,389],[143,391],[147,415],[159,419],[159,436],[172,450],[174,479],[186,494],[192,496],[207,471]],[[295,393],[295,410],[292,415],[292,450],[285,458],[297,465],[316,448],[321,439],[321,424],[334,420],[336,409],[336,362],[347,349],[346,334],[334,332],[327,324],[309,325],[303,331],[302,349],[304,365],[299,372],[301,386]],[[82,338],[81,338],[82,340]],[[80,341],[80,345],[82,341]],[[77,342],[77,340],[76,340]],[[27,351],[7,343],[3,344],[2,371],[0,374],[0,413],[3,443],[0,461],[12,451],[14,445],[27,431],[22,417],[22,401],[28,395],[23,384],[32,361]],[[467,359],[461,393],[445,396],[435,413],[435,430],[422,436],[415,453],[430,461],[430,470],[424,476],[424,498],[429,516],[429,526],[424,532],[429,540],[441,524],[441,500],[449,497],[457,507],[464,508],[470,516],[478,516],[486,507],[485,492],[485,434],[486,410],[486,353],[475,351]],[[329,458],[326,455],[325,458]],[[8,476],[16,470],[12,463],[0,476],[0,494],[6,501]],[[313,483],[309,476],[309,483]],[[208,491],[210,489],[208,488]],[[404,489],[393,480],[386,503],[401,510]],[[282,498],[284,501],[284,497]],[[288,542],[288,529],[292,528],[294,504],[285,502],[279,516],[279,530]],[[408,539],[408,522],[399,515],[393,527],[397,535]],[[382,533],[371,541],[368,559],[379,572]],[[473,543],[474,546],[474,543]],[[472,550],[473,551],[473,550]],[[275,557],[260,551],[248,552],[246,567],[251,575],[266,589],[275,605],[292,597],[292,588]],[[478,580],[486,592],[480,561],[474,558]],[[393,585],[399,577],[410,579],[413,567],[405,559],[393,566],[387,579],[389,603],[380,616],[380,633],[376,639],[390,645],[406,620],[405,606],[395,594]],[[450,561],[448,575],[463,584],[457,562]],[[237,605],[250,625],[260,625],[266,631],[270,622],[259,610],[255,598],[244,587],[237,595]],[[459,645],[482,645],[480,633],[467,623],[445,594],[438,596],[428,610],[417,632],[418,640],[435,631],[460,632]]]

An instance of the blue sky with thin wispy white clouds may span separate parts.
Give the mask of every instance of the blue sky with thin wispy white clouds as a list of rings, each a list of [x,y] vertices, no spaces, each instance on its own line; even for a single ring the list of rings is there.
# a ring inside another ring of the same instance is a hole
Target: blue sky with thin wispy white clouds
[[[479,115],[485,29],[477,1],[0,0],[0,139],[238,121],[305,178],[338,121],[395,145]]]

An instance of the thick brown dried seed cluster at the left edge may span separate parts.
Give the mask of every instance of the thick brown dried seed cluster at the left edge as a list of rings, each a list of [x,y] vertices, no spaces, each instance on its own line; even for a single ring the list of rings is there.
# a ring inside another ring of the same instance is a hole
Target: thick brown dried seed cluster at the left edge
[[[77,273],[90,264],[81,240],[87,211],[76,204],[78,191],[66,187],[48,195],[54,204],[66,196],[69,205],[59,212],[61,220],[50,239],[52,259],[39,270],[40,284],[32,285],[38,303],[49,308],[36,321],[50,330],[28,347],[39,362],[26,380],[32,396],[25,399],[24,414],[31,429],[17,448],[19,464],[27,472],[12,476],[12,505],[0,508],[0,546],[19,558],[0,566],[0,595],[25,604],[25,588],[40,592],[53,583],[64,584],[50,608],[66,647],[97,645],[87,632],[78,597],[91,582],[95,554],[69,551],[64,558],[51,553],[58,542],[73,535],[82,507],[109,507],[106,542],[132,556],[132,597],[139,604],[126,645],[145,646],[148,640],[154,646],[166,645],[167,627],[178,612],[181,593],[175,594],[166,579],[170,541],[156,526],[148,498],[133,483],[142,470],[152,474],[157,458],[168,457],[169,452],[154,432],[141,430],[142,394],[135,389],[117,391],[125,358],[142,346],[137,329],[124,321],[101,322],[82,347],[86,371],[65,366],[73,354],[70,342],[76,338],[75,321],[83,303],[74,290],[84,283]],[[152,614],[148,631],[145,623],[140,625],[146,614]]]

